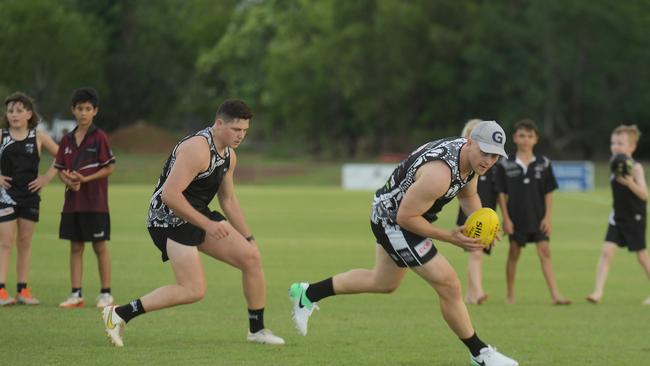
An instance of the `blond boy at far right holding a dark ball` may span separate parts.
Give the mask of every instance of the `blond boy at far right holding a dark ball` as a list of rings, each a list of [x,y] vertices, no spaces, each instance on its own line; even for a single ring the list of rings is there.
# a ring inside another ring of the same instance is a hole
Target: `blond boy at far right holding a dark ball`
[[[624,154],[631,160],[640,136],[641,132],[636,125],[616,127],[611,137],[612,155]],[[627,247],[628,251],[635,252],[639,264],[650,278],[650,259],[645,240],[648,187],[643,166],[639,162],[631,161],[631,172],[621,175],[612,173],[609,178],[614,202],[609,215],[605,244],[596,269],[594,292],[587,296],[587,301],[593,304],[597,304],[603,297],[609,264],[616,254],[617,246]],[[650,305],[650,297],[643,303]]]

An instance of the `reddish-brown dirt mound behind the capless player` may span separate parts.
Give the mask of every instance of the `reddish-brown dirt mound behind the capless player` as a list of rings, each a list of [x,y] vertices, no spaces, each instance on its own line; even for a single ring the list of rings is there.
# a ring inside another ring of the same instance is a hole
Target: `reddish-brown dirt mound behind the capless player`
[[[122,127],[109,135],[114,150],[133,154],[169,153],[181,137],[146,122]]]

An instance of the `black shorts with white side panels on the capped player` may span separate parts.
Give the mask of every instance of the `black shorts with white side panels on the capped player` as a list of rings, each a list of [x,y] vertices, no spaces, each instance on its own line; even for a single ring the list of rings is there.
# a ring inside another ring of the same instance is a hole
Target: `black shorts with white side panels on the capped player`
[[[417,267],[430,261],[438,249],[430,238],[413,234],[395,225],[385,228],[370,221],[372,233],[399,267]]]

